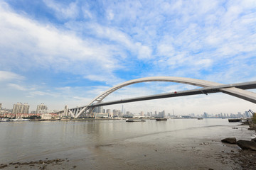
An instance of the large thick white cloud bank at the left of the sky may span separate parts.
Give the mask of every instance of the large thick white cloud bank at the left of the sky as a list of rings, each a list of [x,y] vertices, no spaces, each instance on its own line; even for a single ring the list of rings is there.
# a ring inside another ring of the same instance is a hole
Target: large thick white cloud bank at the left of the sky
[[[67,30],[37,23],[11,12],[4,5],[0,6],[2,68],[53,68],[86,77],[112,74],[114,69],[120,67],[114,58],[115,47],[99,44],[97,40],[83,40]]]

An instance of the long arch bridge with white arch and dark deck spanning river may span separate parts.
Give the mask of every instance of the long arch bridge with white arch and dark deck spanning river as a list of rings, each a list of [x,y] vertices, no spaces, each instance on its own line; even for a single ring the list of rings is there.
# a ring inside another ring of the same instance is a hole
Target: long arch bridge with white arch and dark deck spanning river
[[[109,101],[109,102],[102,103],[102,100],[104,98],[112,94],[114,91],[117,91],[118,89],[123,88],[124,86],[129,86],[131,84],[138,84],[138,83],[149,82],[149,81],[167,81],[167,82],[175,82],[175,83],[181,83],[181,84],[190,84],[193,86],[199,86],[201,88],[188,90],[188,91],[177,91],[177,92],[175,91],[173,93],[167,93],[167,94],[142,96],[137,98],[127,98],[119,101]],[[112,88],[108,89],[104,93],[95,97],[86,106],[80,106],[77,108],[65,108],[64,111],[60,111],[58,113],[62,115],[71,115],[71,117],[73,118],[79,118],[81,115],[90,115],[93,109],[97,106],[107,106],[107,105],[112,105],[117,103],[127,103],[127,102],[133,102],[133,101],[145,101],[145,100],[151,100],[156,98],[170,98],[170,97],[176,97],[176,96],[188,96],[188,95],[195,95],[195,94],[210,94],[210,93],[217,93],[217,92],[223,92],[224,94],[229,94],[231,96],[235,96],[238,98],[242,98],[246,101],[256,103],[256,94],[252,91],[246,91],[245,89],[256,89],[256,81],[250,81],[250,82],[245,82],[240,84],[219,84],[213,81],[191,79],[191,78],[184,78],[184,77],[145,77],[141,79],[133,79],[130,81],[125,81],[122,84],[113,86]]]

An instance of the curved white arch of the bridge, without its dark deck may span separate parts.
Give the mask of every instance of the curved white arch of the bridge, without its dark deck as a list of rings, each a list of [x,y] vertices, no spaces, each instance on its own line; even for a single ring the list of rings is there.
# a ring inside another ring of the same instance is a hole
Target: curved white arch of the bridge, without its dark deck
[[[69,112],[75,118],[78,118],[82,113],[85,113],[87,111],[89,113],[91,113],[92,110],[95,108],[95,107],[92,107],[93,103],[95,103],[95,102],[100,103],[104,98],[106,98],[108,95],[112,94],[114,91],[117,91],[118,89],[121,89],[124,86],[129,86],[131,84],[137,84],[137,83],[149,82],[149,81],[176,82],[176,83],[181,83],[181,84],[190,84],[193,86],[200,86],[203,88],[223,85],[223,84],[219,84],[219,83],[216,83],[213,81],[206,81],[206,80],[201,80],[201,79],[191,79],[191,78],[184,78],[184,77],[145,77],[145,78],[141,78],[141,79],[133,79],[133,80],[125,81],[122,84],[118,84],[117,86],[113,86],[112,88],[108,89],[104,93],[102,93],[99,96],[97,96],[96,98],[94,98],[89,103],[89,105],[82,106],[79,108],[70,109]],[[245,91],[243,89],[238,89],[235,87],[228,87],[225,89],[220,88],[219,90],[225,94],[229,94],[231,96],[235,96],[235,97],[242,98],[247,101],[256,103],[256,94],[253,93],[252,91]]]

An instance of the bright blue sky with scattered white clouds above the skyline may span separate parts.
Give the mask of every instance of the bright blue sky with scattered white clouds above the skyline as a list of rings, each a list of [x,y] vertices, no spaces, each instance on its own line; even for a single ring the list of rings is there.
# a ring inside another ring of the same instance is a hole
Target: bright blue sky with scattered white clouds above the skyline
[[[112,86],[143,77],[255,81],[255,68],[255,0],[0,0],[3,108],[17,102],[30,111],[40,103],[50,110],[84,106]],[[104,101],[196,88],[141,83]],[[222,93],[123,105],[132,113],[256,111],[255,103]]]

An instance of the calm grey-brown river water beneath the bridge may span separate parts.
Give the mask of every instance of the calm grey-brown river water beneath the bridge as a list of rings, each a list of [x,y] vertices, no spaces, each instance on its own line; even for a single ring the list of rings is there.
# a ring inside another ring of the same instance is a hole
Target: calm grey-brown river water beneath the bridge
[[[228,153],[239,147],[220,140],[255,137],[239,124],[228,119],[0,123],[0,164],[65,159],[46,169],[235,169]]]

